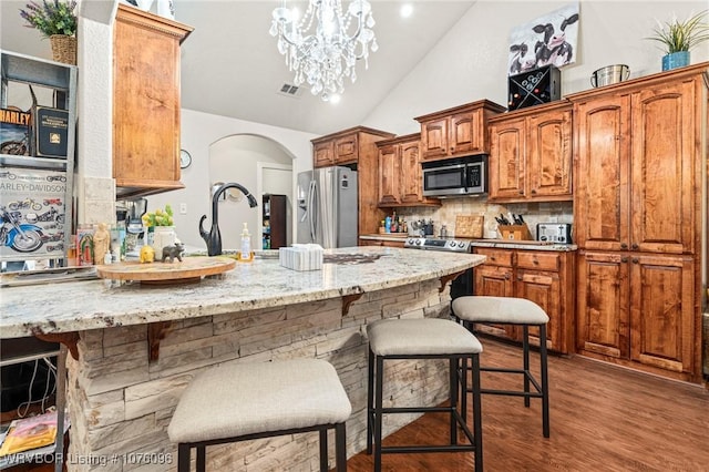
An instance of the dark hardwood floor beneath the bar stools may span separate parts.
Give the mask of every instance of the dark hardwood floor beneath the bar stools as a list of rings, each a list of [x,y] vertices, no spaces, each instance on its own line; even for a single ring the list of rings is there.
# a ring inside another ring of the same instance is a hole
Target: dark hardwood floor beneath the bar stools
[[[481,338],[486,366],[518,366],[520,348]],[[533,355],[533,371],[537,356]],[[541,401],[483,396],[486,471],[709,470],[709,391],[574,357],[549,358],[551,438],[542,435]],[[485,386],[515,386],[521,377],[484,373]],[[470,418],[470,417],[469,417]],[[427,414],[386,439],[386,444],[445,441],[448,422]],[[372,456],[357,454],[350,472],[371,471]],[[384,471],[472,471],[470,453],[384,454]]]

